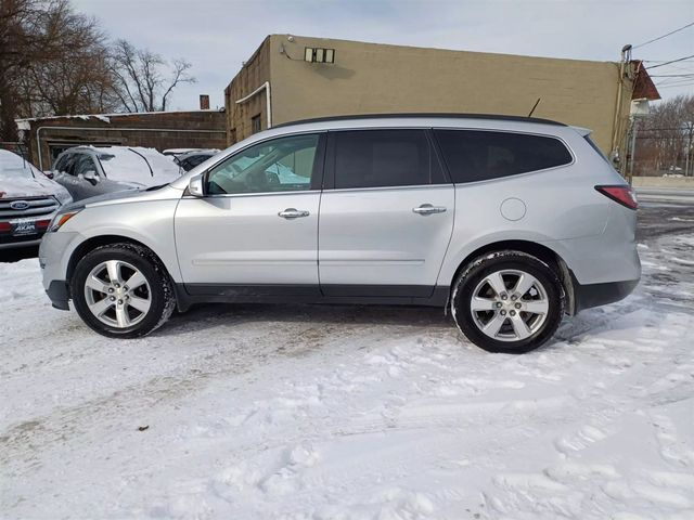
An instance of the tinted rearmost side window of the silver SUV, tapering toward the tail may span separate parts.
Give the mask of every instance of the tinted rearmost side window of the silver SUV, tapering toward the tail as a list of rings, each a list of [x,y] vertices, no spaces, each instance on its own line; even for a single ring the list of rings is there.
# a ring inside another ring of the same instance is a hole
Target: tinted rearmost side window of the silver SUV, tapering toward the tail
[[[486,181],[571,162],[558,139],[513,132],[434,130],[454,183]]]

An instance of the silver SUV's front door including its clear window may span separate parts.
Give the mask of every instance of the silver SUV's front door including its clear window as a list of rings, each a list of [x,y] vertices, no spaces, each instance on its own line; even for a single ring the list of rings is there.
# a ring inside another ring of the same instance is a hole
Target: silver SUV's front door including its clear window
[[[205,174],[175,219],[190,294],[318,294],[318,210],[324,135],[252,145]]]

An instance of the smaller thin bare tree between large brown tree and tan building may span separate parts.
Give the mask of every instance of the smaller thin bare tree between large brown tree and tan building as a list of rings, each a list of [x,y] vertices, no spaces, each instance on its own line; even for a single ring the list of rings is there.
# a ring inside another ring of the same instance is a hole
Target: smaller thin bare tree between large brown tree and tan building
[[[114,90],[127,112],[166,110],[169,96],[181,83],[193,83],[191,64],[174,60],[171,65],[146,49],[137,49],[126,40],[117,40],[111,53]]]

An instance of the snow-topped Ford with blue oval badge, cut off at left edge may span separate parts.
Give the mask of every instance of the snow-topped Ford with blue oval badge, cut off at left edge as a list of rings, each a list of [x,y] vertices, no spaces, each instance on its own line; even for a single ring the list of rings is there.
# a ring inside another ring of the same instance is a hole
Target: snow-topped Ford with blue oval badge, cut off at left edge
[[[36,246],[69,193],[12,152],[0,148],[0,249]]]

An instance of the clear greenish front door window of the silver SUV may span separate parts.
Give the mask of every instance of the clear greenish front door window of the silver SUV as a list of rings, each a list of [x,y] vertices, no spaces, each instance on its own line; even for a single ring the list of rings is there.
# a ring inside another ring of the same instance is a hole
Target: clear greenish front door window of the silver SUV
[[[250,146],[209,170],[209,194],[296,192],[311,188],[318,134],[291,135]]]

